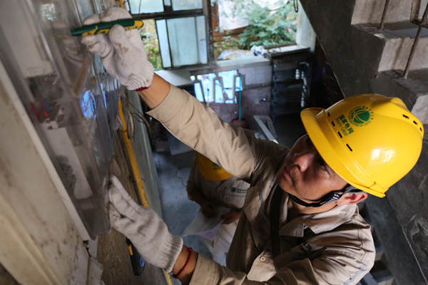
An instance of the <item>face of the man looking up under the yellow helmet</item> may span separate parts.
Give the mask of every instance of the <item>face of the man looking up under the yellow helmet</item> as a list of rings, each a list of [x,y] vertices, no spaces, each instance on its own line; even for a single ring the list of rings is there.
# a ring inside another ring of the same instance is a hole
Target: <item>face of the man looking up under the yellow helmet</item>
[[[307,202],[317,202],[347,185],[325,163],[308,135],[300,137],[285,157],[277,172],[277,182],[282,190]]]

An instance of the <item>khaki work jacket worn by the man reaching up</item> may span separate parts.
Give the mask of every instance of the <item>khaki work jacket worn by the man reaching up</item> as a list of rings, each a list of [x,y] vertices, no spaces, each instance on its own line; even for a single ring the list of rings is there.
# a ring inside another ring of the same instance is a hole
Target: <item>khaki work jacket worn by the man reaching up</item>
[[[370,226],[356,205],[287,218],[280,212],[281,254],[272,260],[269,206],[287,147],[223,122],[185,90],[171,86],[149,115],[188,146],[250,183],[227,267],[199,255],[191,285],[357,284],[374,264]]]

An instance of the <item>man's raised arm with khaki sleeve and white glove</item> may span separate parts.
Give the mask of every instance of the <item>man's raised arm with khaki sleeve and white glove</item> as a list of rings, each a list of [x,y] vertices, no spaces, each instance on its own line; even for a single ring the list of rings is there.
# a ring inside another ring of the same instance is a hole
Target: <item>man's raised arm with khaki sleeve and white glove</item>
[[[89,16],[83,24],[126,18],[131,18],[128,11],[112,7],[103,14]],[[153,75],[138,30],[125,31],[115,25],[108,34],[85,36],[82,42],[88,51],[100,56],[106,71],[121,85],[141,95],[152,109],[149,115],[161,121],[176,138],[235,176],[248,178],[253,172],[255,154],[248,147],[253,142],[248,142],[245,132],[220,120],[190,94]]]

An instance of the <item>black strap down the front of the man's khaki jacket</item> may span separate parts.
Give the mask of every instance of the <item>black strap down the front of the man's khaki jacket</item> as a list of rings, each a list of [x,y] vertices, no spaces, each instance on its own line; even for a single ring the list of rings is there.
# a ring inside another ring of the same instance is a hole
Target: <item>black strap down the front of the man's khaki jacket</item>
[[[280,228],[280,209],[283,194],[284,190],[277,186],[270,201],[270,243],[272,244],[273,258],[281,253],[280,234],[278,231]]]

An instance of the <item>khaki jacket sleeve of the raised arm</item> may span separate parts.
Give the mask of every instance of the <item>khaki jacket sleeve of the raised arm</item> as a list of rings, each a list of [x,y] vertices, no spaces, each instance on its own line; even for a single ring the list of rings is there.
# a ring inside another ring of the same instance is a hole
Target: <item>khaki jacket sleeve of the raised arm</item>
[[[159,120],[175,138],[240,179],[248,180],[257,167],[255,145],[260,140],[254,133],[220,120],[185,90],[170,86],[166,98],[148,115]]]

